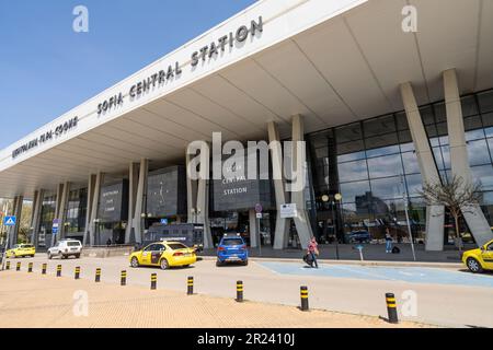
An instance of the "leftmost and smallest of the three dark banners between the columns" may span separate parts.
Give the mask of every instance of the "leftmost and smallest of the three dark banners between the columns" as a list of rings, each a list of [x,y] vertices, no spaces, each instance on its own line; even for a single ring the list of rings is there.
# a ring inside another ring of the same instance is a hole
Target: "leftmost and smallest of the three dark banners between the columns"
[[[124,179],[101,187],[98,219],[102,222],[128,219],[128,180]]]

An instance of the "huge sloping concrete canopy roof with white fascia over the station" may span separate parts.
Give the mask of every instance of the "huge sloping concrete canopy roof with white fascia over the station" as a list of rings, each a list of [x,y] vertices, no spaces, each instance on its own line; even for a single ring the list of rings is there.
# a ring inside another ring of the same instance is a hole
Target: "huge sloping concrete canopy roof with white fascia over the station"
[[[404,33],[402,9],[417,9],[417,33]],[[196,67],[191,55],[262,16],[263,32]],[[293,115],[306,131],[403,109],[411,82],[419,104],[444,98],[442,72],[458,71],[460,93],[493,85],[493,1],[265,0],[0,152],[0,197],[55,190],[91,173],[127,172],[130,162],[184,160],[193,140],[266,139],[268,121],[289,136]],[[136,83],[180,62],[182,74],[139,98]],[[69,89],[69,86],[67,88]],[[119,93],[124,103],[101,115]],[[58,125],[78,125],[13,158]]]

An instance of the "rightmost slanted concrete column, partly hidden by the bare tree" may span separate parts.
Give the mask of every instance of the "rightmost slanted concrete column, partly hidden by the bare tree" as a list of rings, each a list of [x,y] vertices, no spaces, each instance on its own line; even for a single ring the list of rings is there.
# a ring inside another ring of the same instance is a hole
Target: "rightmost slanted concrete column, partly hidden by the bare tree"
[[[444,72],[444,90],[451,172],[454,176],[461,177],[463,179],[463,185],[467,186],[473,183],[473,178],[471,168],[469,167],[462,106],[460,103],[459,85],[455,69],[449,69]],[[480,206],[461,208],[461,210],[478,245],[481,246],[490,240],[493,240],[490,224],[484,218]]]

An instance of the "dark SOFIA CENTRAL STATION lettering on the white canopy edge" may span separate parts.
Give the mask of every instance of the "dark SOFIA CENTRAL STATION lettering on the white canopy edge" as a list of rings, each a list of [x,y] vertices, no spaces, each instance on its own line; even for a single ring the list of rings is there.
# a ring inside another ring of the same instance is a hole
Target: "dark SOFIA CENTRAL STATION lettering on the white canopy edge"
[[[200,47],[197,50],[193,51],[191,55],[191,60],[186,63],[190,63],[192,68],[196,68],[200,61],[206,62],[207,59],[217,57],[221,52],[225,52],[228,47],[230,50],[233,49],[234,43],[243,43],[248,39],[249,36],[255,37],[255,34],[262,33],[263,30],[263,19],[262,16],[259,16],[259,20],[251,21],[250,26],[242,25],[236,32],[225,34],[209,45]],[[146,79],[133,84],[127,94],[124,94],[124,92],[119,92],[118,94],[101,102],[100,104],[98,104],[98,115],[106,113],[112,108],[122,105],[126,96],[136,98],[141,94],[150,91],[151,89],[154,89],[156,86],[162,86],[167,82],[180,78],[183,73],[182,67],[184,67],[185,65],[182,66],[179,61],[175,61],[174,63],[169,65],[168,69],[159,70],[153,74],[150,74]]]

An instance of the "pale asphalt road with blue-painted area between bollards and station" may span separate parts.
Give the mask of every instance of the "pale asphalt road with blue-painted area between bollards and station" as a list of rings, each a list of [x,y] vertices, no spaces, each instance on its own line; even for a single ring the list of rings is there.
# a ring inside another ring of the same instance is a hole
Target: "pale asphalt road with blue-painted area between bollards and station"
[[[246,300],[285,305],[299,305],[299,288],[308,285],[310,307],[372,316],[386,316],[385,293],[393,292],[402,319],[452,327],[493,327],[493,275],[472,275],[460,269],[323,264],[317,270],[301,262],[274,261],[216,267],[215,260],[205,259],[190,268],[163,271],[134,269],[128,257],[48,260],[44,254],[12,260],[11,268],[16,261],[22,261],[24,271],[33,261],[35,273],[41,273],[41,265],[47,262],[51,275],[61,264],[62,276],[67,277],[73,277],[74,267],[80,266],[81,278],[91,280],[100,267],[101,280],[113,283],[119,283],[121,270],[126,269],[128,284],[148,288],[150,275],[156,272],[158,289],[183,292],[186,278],[193,276],[196,293],[225,298],[234,298],[236,282],[242,280]],[[403,300],[405,295],[415,295],[416,316],[409,314],[413,307]]]

